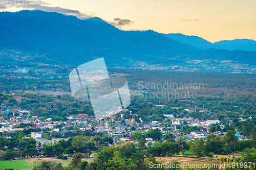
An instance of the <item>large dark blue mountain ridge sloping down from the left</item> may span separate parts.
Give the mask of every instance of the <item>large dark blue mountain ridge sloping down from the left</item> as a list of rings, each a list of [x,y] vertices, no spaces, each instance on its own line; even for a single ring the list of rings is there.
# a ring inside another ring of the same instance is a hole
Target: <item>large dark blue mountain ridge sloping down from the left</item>
[[[122,31],[98,17],[81,20],[54,12],[1,12],[0,30],[2,65],[14,62],[78,66],[100,57],[108,67],[150,69],[156,65],[186,66],[191,60],[256,63],[255,52],[202,50],[152,30]],[[193,38],[201,44],[208,42]]]

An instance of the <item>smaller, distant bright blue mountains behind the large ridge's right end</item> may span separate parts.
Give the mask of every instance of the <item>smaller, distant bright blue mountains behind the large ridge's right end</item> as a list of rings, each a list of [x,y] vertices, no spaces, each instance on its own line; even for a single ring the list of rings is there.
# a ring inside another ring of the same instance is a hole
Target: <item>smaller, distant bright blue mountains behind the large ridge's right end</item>
[[[251,39],[234,39],[234,40],[224,40],[215,43],[211,43],[198,36],[188,36],[183,34],[163,34],[164,36],[171,38],[173,40],[179,41],[183,44],[189,44],[191,46],[197,47],[201,50],[206,50],[209,48],[217,48],[222,50],[243,50],[256,52],[256,41]]]

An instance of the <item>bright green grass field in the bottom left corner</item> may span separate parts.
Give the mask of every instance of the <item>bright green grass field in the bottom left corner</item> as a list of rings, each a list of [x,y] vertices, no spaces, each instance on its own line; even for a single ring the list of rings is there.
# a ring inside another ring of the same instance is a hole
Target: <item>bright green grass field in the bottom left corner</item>
[[[16,161],[0,161],[0,170],[5,168],[13,169],[32,169],[32,166],[26,160],[16,160]]]

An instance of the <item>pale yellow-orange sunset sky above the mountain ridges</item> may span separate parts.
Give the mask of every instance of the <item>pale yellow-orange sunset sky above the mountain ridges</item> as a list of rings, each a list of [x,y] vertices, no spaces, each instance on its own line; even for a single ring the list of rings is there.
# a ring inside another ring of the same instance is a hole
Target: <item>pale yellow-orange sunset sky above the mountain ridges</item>
[[[23,5],[18,1],[15,5],[0,4],[0,11],[23,9],[79,18],[97,16],[121,30],[181,33],[210,42],[256,40],[256,0],[32,0]]]

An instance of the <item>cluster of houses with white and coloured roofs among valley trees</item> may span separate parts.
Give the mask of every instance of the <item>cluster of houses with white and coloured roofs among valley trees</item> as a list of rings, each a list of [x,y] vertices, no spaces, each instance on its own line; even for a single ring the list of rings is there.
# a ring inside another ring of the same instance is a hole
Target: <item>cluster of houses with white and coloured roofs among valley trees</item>
[[[8,110],[7,110],[8,111]],[[204,110],[205,111],[205,110]],[[211,124],[217,124],[220,123],[218,119],[214,120],[200,120],[198,118],[194,119],[192,117],[183,117],[183,118],[175,118],[173,114],[164,114],[166,117],[163,122],[158,122],[158,121],[152,121],[150,123],[145,123],[141,118],[139,118],[141,123],[138,123],[135,121],[134,118],[130,119],[124,119],[124,123],[121,123],[120,121],[115,121],[113,116],[109,116],[110,119],[112,119],[112,125],[109,125],[108,122],[102,121],[100,119],[96,118],[91,118],[88,117],[87,114],[78,114],[77,116],[68,116],[67,121],[62,122],[61,120],[59,121],[52,121],[51,118],[47,118],[44,121],[42,121],[40,118],[37,116],[30,116],[24,117],[23,113],[29,113],[27,110],[18,110],[20,113],[19,116],[16,116],[14,120],[3,120],[3,117],[0,117],[0,124],[3,125],[0,128],[0,132],[13,132],[15,130],[23,130],[23,128],[15,128],[16,125],[23,124],[23,123],[31,123],[31,124],[36,124],[34,127],[31,128],[40,128],[40,129],[47,129],[50,131],[69,131],[69,127],[77,125],[79,126],[80,130],[86,131],[86,130],[92,130],[94,128],[94,131],[97,132],[104,132],[107,131],[110,136],[113,137],[114,142],[118,141],[134,141],[132,137],[127,137],[127,136],[132,136],[133,133],[135,132],[140,132],[140,133],[145,133],[147,131],[151,131],[152,129],[159,129],[162,132],[162,136],[166,134],[170,134],[174,136],[175,140],[178,140],[179,136],[186,136],[185,140],[195,140],[195,139],[202,139],[206,140],[207,135],[210,134],[208,129],[211,127]],[[28,115],[28,114],[27,114]],[[30,114],[29,114],[30,115]],[[136,116],[136,115],[135,115]],[[172,120],[172,124],[170,127],[165,126],[165,124],[168,122],[168,120]],[[64,124],[65,126],[62,128],[56,128],[57,125]],[[189,134],[186,133],[181,133],[179,130],[176,129],[177,126],[184,126],[188,125],[190,127],[200,127],[200,131],[194,131],[190,132]],[[131,129],[131,127],[136,127],[136,129]],[[224,125],[220,125],[221,129],[224,129]],[[202,130],[203,128],[206,128],[207,130],[204,131]],[[225,135],[225,132],[215,132],[214,134],[223,136]],[[125,136],[125,137],[124,137]],[[245,137],[243,135],[240,135],[239,133],[236,133],[236,136],[238,138],[244,139]],[[47,142],[44,141],[44,138],[37,137],[38,141],[41,142]],[[146,142],[153,142],[154,139],[152,138],[147,138]]]

